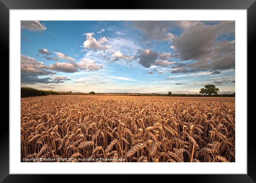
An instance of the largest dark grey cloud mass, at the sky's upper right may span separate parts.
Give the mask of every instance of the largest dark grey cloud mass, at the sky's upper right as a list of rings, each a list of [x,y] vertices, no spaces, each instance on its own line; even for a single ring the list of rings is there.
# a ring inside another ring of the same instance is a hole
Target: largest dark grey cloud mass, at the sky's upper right
[[[182,61],[195,60],[186,66],[194,71],[235,67],[235,41],[216,41],[218,37],[231,32],[235,32],[235,21],[191,25],[173,39],[176,48],[174,55]]]

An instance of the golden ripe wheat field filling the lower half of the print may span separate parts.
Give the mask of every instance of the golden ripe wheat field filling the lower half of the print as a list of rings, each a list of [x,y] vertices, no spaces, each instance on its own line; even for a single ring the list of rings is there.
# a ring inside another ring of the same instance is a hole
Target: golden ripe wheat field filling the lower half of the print
[[[21,162],[235,162],[235,98],[21,98]]]

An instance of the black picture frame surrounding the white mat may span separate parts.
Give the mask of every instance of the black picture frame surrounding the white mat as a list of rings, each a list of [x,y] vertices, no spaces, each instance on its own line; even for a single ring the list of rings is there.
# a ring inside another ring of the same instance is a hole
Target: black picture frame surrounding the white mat
[[[256,30],[256,2],[255,0],[130,0],[123,5],[121,1],[113,0],[102,1],[100,3],[93,1],[84,0],[0,0],[0,50],[2,56],[1,71],[2,75],[2,86],[3,90],[0,90],[2,100],[5,107],[2,109],[4,118],[2,118],[2,130],[0,133],[0,182],[24,182],[24,183],[35,183],[35,182],[51,182],[54,178],[58,178],[59,182],[73,181],[80,178],[88,178],[88,175],[29,175],[29,174],[9,174],[9,10],[11,9],[246,9],[247,10],[247,60],[253,57]],[[118,7],[113,5],[118,4]],[[237,35],[239,36],[239,35]],[[252,61],[251,61],[252,62]],[[245,63],[246,64],[246,63]],[[248,67],[250,65],[250,67]],[[250,72],[251,69],[251,72]],[[247,83],[253,81],[252,63],[249,64],[247,61]],[[237,76],[239,77],[239,76]],[[253,91],[249,91],[247,87],[247,96],[250,98],[250,103],[255,104],[255,98],[253,97]],[[7,97],[8,96],[8,97]],[[247,114],[253,114],[254,107],[249,107],[247,102]],[[3,105],[2,105],[3,106]],[[255,105],[254,105],[255,106]],[[3,111],[4,110],[4,111]],[[8,117],[7,117],[8,116]],[[249,117],[249,116],[248,116]],[[7,118],[5,120],[5,118]],[[243,123],[246,124],[246,121]],[[178,178],[179,181],[186,182],[202,182],[202,183],[253,183],[256,182],[256,146],[253,128],[254,121],[247,120],[247,174],[190,174],[190,175],[169,175],[172,178]],[[113,173],[115,171],[113,170]],[[97,177],[99,180],[105,179],[105,175],[92,175],[94,178]],[[117,179],[117,175],[109,175],[109,180]],[[130,175],[123,175],[122,181],[127,181]],[[163,179],[164,177],[162,177]],[[152,175],[147,175],[148,178],[152,178]],[[75,179],[74,179],[75,178]],[[84,180],[86,180],[84,179]],[[142,181],[144,176],[137,176],[137,181]],[[106,179],[105,179],[106,180]],[[174,180],[174,179],[172,179]]]

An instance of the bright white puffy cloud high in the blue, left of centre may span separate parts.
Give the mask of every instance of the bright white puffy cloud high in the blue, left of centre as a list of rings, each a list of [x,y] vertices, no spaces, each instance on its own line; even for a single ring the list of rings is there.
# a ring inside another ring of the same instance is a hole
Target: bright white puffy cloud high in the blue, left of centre
[[[92,49],[92,50],[104,50],[104,51],[111,48],[111,46],[102,45],[108,41],[108,39],[106,37],[102,37],[99,39],[99,41],[97,41],[93,37],[94,32],[88,32],[88,33],[85,33],[84,35],[86,35],[86,37],[87,37],[86,41],[84,41],[84,43],[83,43],[84,48]]]

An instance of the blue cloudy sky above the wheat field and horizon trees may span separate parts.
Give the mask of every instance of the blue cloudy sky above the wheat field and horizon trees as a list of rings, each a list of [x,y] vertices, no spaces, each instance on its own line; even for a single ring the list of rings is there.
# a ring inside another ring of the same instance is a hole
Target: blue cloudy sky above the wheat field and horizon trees
[[[21,86],[235,92],[234,21],[21,21]]]

